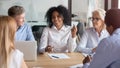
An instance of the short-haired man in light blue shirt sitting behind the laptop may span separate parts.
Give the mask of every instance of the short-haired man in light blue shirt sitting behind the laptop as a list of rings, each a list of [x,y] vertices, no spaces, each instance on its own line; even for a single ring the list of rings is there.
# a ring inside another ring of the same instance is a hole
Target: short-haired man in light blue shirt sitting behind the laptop
[[[31,27],[24,23],[25,10],[21,6],[12,6],[8,9],[8,15],[13,17],[17,23],[16,41],[34,41]]]

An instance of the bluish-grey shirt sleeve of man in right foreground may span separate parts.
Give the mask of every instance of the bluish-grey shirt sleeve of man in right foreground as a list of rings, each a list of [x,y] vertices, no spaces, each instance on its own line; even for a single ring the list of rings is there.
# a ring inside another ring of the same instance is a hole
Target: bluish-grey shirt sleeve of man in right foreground
[[[113,48],[109,43],[105,39],[100,42],[88,68],[106,68],[108,66],[109,61],[112,59],[110,57],[112,56],[111,49]]]

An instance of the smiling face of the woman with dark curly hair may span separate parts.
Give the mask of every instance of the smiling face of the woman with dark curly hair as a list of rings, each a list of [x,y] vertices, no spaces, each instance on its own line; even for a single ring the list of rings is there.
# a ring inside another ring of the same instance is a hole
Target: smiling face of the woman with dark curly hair
[[[63,26],[63,17],[57,11],[54,11],[52,14],[52,22],[56,28],[61,28]]]

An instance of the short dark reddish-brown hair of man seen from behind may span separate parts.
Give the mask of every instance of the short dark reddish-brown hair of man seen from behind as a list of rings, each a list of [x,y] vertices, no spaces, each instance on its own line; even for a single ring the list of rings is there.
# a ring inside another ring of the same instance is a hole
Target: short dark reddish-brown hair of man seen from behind
[[[120,9],[114,8],[106,12],[105,23],[113,26],[114,29],[120,28]]]

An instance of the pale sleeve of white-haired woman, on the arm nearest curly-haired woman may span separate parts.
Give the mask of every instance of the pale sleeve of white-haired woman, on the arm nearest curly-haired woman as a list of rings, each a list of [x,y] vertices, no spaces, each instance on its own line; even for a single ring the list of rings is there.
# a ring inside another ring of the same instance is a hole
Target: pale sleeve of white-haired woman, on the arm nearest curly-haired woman
[[[77,46],[78,52],[82,52],[82,53],[86,53],[86,54],[92,53],[91,48],[86,48],[88,38],[89,38],[88,33],[87,33],[87,31],[85,31],[84,34],[82,35],[82,38],[80,39],[80,43]]]

